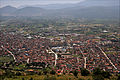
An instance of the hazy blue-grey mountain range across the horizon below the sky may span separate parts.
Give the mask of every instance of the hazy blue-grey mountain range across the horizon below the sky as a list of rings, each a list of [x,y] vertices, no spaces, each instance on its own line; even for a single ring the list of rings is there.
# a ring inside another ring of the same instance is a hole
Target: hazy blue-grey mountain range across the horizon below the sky
[[[76,4],[33,5],[0,8],[0,16],[40,16],[74,18],[119,18],[119,0],[85,0]]]

